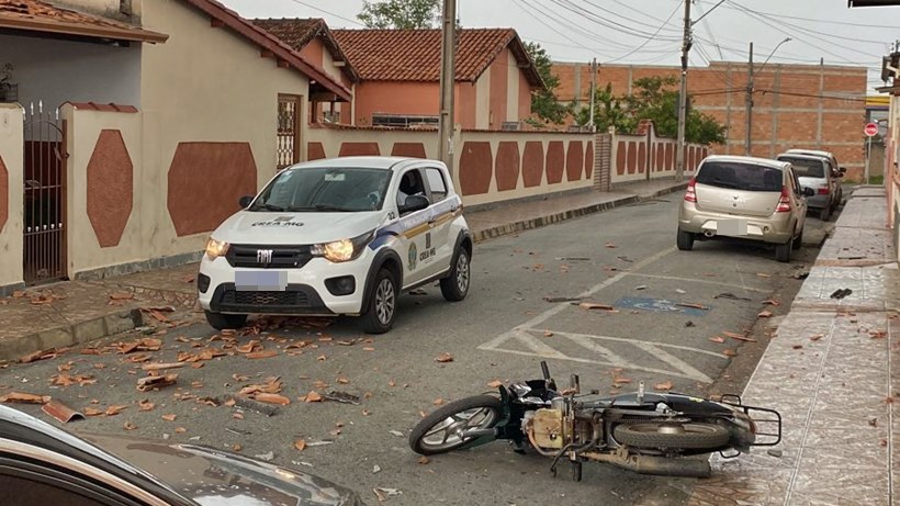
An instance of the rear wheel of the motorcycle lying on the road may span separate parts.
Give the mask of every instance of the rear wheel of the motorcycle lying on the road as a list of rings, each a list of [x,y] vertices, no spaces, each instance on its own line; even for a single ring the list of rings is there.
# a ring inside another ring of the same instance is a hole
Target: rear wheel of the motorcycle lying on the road
[[[616,440],[632,448],[666,448],[685,450],[718,449],[728,445],[731,435],[716,424],[630,424],[619,425]]]

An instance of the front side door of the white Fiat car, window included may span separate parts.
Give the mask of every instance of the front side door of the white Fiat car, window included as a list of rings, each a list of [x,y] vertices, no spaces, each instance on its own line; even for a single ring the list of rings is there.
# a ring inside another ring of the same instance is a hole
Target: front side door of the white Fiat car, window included
[[[404,211],[406,196],[419,194],[428,196],[423,173],[418,168],[407,168],[397,173],[396,184],[392,184],[390,202],[396,206],[401,241],[400,254],[403,260],[403,286],[418,284],[429,276],[429,241],[431,240],[429,221],[431,206],[418,211]]]

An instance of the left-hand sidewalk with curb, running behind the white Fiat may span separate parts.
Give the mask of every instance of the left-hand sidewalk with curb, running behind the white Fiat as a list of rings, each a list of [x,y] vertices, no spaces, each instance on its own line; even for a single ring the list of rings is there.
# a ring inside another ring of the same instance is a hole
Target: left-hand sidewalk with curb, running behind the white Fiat
[[[515,234],[683,189],[672,179],[622,184],[466,210],[475,241]],[[87,342],[145,324],[180,325],[202,318],[195,307],[196,263],[99,281],[65,281],[0,299],[0,363],[29,353]],[[151,313],[150,308],[158,308]]]

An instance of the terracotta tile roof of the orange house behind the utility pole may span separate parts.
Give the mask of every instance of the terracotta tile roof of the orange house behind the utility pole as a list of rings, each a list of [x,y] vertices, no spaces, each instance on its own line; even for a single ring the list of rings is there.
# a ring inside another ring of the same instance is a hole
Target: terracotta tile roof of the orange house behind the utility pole
[[[440,80],[440,30],[333,30],[363,80]],[[510,47],[533,87],[543,83],[513,29],[463,29],[457,42],[455,80],[472,81]]]

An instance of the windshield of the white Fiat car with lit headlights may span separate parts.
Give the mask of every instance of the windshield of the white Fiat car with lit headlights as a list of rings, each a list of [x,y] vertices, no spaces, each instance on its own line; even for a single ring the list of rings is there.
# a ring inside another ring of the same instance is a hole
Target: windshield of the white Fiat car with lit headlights
[[[362,212],[384,203],[391,172],[357,167],[315,167],[282,171],[248,211]]]

